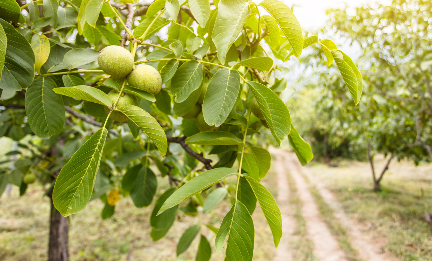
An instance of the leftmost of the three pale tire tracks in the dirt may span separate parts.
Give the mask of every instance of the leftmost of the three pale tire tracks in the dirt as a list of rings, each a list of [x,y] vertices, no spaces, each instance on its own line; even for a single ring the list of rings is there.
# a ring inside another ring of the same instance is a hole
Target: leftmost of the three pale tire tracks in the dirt
[[[288,186],[288,178],[286,177],[286,169],[283,164],[283,157],[280,156],[277,152],[276,154],[276,162],[275,162],[275,171],[277,178],[277,197],[276,201],[279,205],[280,212],[282,213],[282,238],[280,239],[280,243],[278,248],[276,248],[276,257],[273,259],[274,261],[291,261],[292,253],[289,247],[290,238],[294,233],[295,226],[297,225],[295,220],[292,219],[291,213],[292,209],[289,205],[289,186]]]

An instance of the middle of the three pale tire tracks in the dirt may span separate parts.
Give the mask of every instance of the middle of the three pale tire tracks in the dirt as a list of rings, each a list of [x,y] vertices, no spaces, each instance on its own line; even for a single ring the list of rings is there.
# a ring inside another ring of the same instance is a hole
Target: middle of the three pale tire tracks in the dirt
[[[344,251],[340,249],[337,240],[327,228],[318,211],[314,197],[309,191],[309,185],[300,174],[297,159],[291,153],[278,150],[284,156],[283,163],[295,181],[299,198],[303,203],[302,216],[306,220],[306,230],[309,238],[314,242],[314,256],[318,261],[347,261]]]

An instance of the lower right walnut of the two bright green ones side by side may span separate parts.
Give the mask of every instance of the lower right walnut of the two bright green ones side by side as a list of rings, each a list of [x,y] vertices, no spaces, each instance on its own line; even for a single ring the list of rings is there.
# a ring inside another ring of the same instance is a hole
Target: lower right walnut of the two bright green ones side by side
[[[162,77],[159,72],[147,64],[140,64],[129,73],[127,83],[138,89],[143,89],[155,95],[162,87]]]

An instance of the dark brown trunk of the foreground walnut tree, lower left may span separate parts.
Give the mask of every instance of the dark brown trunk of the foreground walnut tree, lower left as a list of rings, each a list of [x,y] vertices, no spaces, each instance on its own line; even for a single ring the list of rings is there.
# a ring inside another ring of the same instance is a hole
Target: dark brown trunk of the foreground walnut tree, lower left
[[[57,156],[57,149],[54,146],[50,156]],[[60,170],[55,175],[57,176]],[[54,178],[51,177],[51,181]],[[48,261],[69,261],[69,220],[58,212],[53,203],[53,189],[47,193],[51,201],[50,212],[50,238],[48,243]]]

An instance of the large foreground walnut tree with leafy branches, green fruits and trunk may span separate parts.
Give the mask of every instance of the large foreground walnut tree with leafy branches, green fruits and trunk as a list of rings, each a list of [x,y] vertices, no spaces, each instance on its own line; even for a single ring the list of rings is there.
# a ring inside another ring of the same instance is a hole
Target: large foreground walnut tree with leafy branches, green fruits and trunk
[[[68,259],[63,216],[90,200],[105,202],[102,218],[113,215],[121,196],[137,207],[152,204],[155,167],[171,188],[154,204],[153,240],[166,234],[178,212],[200,216],[229,195],[232,208],[219,229],[197,218],[177,254],[207,226],[219,253],[228,237],[226,260],[251,260],[257,201],[277,247],[280,210],[259,183],[271,156],[254,146],[254,136],[264,125],[278,145],[288,137],[302,164],[313,155],[278,96],[286,82],[275,78],[279,67],[262,45],[283,60],[319,45],[356,104],[362,93],[353,61],[330,40],[304,38],[292,11],[277,0],[37,0],[21,7],[6,0],[0,8],[6,10],[0,19],[1,129],[22,148],[14,152],[21,155],[20,170],[4,169],[1,187],[13,183],[24,193],[30,172],[48,182],[51,229],[58,227],[50,260]],[[213,164],[210,154],[219,161]],[[233,185],[226,183],[234,176]],[[201,236],[197,259],[210,254]]]

